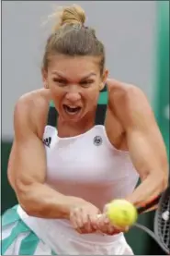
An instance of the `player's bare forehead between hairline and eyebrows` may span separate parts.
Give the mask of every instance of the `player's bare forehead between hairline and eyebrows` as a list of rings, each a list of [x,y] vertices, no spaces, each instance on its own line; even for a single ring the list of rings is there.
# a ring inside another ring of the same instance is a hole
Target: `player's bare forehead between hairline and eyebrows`
[[[50,73],[60,73],[62,77],[83,77],[89,73],[99,75],[99,58],[96,56],[54,55],[49,63]]]

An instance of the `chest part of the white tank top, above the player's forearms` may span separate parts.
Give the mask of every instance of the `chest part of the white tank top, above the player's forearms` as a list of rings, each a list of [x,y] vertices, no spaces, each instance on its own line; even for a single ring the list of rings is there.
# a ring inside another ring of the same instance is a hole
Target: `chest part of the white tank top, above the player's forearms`
[[[84,134],[59,138],[47,126],[47,183],[65,195],[94,203],[100,210],[115,198],[125,198],[136,186],[138,174],[128,152],[116,150],[105,127],[97,125]]]

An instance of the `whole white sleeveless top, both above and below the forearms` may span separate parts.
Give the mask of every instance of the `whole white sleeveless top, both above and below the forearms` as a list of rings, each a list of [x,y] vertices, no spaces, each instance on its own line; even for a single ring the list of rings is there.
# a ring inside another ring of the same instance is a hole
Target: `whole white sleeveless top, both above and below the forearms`
[[[139,176],[129,152],[115,149],[102,125],[71,138],[59,138],[56,128],[46,126],[43,141],[46,182],[64,195],[83,198],[102,210],[109,201],[125,198],[137,184]],[[67,220],[28,216],[20,206],[18,213],[57,254],[132,254],[122,233],[80,235]]]

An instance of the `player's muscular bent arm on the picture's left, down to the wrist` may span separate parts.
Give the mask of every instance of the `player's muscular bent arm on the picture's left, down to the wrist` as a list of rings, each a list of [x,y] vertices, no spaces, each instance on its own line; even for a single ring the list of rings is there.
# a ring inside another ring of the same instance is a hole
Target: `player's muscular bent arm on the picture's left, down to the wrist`
[[[15,140],[8,164],[8,179],[21,207],[43,218],[68,218],[70,207],[81,199],[64,196],[45,184],[46,156],[27,104],[15,109]]]

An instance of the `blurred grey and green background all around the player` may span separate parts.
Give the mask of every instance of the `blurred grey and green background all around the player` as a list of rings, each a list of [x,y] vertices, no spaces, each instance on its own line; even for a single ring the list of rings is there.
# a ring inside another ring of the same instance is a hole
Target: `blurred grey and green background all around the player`
[[[73,1],[2,2],[2,213],[17,203],[6,179],[18,97],[42,87],[40,64],[51,33],[48,16]],[[105,43],[110,77],[133,83],[146,93],[169,155],[169,1],[76,1],[87,25]],[[47,23],[47,24],[45,24]],[[152,213],[140,222],[153,229]],[[136,255],[164,254],[142,231],[127,234]]]

